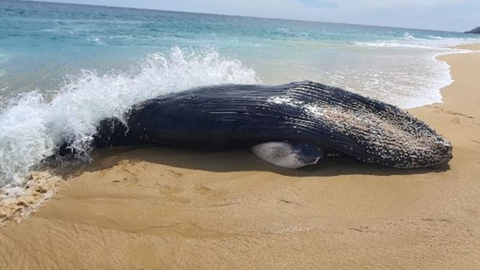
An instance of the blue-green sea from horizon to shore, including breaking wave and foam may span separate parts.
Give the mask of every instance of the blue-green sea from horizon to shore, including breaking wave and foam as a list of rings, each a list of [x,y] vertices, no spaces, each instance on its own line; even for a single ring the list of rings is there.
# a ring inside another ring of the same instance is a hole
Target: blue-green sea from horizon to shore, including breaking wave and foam
[[[451,77],[435,56],[475,42],[459,32],[0,0],[0,186],[21,186],[65,139],[88,158],[99,120],[200,85],[311,79],[404,108],[438,102]]]

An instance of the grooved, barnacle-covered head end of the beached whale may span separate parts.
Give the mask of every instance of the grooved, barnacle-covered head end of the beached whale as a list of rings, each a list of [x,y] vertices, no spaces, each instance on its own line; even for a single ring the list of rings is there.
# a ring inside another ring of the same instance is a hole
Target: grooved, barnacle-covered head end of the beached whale
[[[452,146],[423,121],[400,108],[341,88],[302,82],[272,102],[300,110],[300,129],[322,148],[359,161],[397,168],[448,162]]]

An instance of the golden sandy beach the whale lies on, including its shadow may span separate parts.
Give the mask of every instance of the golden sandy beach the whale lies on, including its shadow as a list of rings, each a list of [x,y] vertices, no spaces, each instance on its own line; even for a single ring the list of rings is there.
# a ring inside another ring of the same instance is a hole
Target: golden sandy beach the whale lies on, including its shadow
[[[451,140],[447,168],[117,148],[0,228],[0,268],[478,269],[480,53],[440,59],[444,103],[411,112]]]

